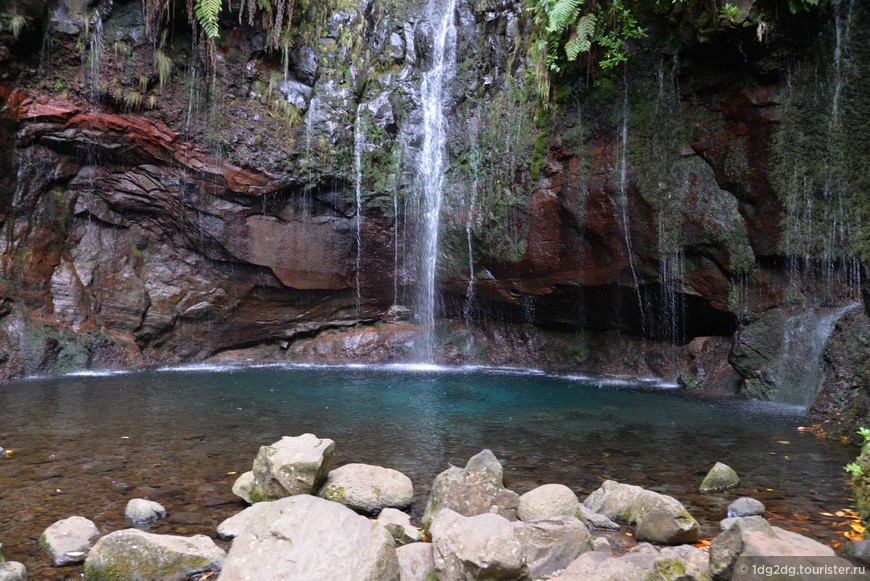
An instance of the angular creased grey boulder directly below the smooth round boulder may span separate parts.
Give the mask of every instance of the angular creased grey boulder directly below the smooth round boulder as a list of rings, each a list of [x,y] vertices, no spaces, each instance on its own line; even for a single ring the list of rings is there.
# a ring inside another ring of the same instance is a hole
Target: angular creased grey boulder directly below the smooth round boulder
[[[559,516],[514,523],[529,578],[540,579],[567,567],[591,551],[592,535],[579,519]]]

